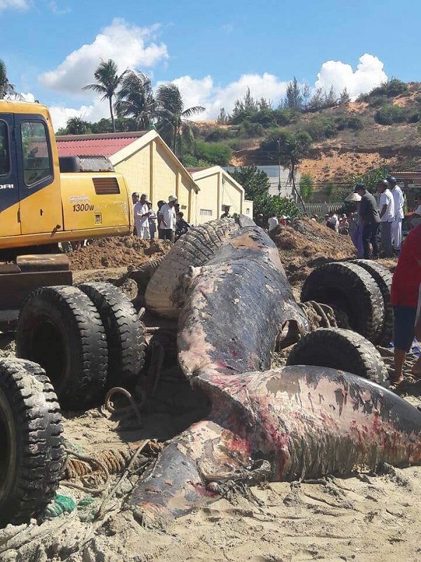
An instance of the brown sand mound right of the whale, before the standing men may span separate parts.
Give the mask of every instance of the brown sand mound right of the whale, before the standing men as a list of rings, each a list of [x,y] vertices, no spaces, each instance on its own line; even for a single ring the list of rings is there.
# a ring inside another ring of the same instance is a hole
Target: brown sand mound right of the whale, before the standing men
[[[271,232],[290,283],[305,280],[314,267],[325,261],[354,258],[349,236],[335,233],[309,218],[298,218],[293,226],[278,226]]]

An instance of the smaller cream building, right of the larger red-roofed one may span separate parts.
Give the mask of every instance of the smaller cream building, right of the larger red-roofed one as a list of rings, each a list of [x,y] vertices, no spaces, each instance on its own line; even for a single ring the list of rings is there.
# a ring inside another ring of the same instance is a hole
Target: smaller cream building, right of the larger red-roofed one
[[[229,206],[229,214],[244,214],[253,218],[253,201],[244,197],[244,188],[220,166],[189,169],[199,187],[196,224],[219,218]]]

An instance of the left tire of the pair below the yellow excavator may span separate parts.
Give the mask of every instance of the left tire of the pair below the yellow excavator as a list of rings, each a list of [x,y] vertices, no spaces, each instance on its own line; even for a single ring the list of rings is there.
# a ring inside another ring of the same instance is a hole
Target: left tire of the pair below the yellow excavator
[[[18,357],[44,367],[62,409],[84,410],[105,396],[107,339],[100,313],[76,287],[40,287],[27,296],[16,330]]]

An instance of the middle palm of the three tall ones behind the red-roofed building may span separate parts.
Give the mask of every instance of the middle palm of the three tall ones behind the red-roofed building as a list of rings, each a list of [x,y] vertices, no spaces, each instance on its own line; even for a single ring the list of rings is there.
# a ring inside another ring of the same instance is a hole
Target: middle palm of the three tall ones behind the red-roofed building
[[[150,78],[143,72],[129,70],[114,103],[117,115],[134,119],[139,130],[149,129],[154,122],[155,105]]]

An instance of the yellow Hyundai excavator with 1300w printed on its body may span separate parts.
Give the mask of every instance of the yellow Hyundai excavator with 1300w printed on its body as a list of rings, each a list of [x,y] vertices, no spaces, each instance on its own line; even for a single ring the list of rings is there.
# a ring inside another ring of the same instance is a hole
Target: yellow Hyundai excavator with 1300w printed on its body
[[[59,242],[131,230],[131,195],[107,158],[59,158],[44,105],[0,100],[0,329],[36,287],[72,284]]]

